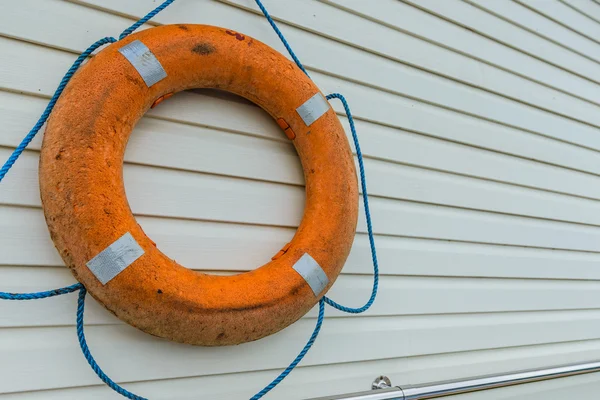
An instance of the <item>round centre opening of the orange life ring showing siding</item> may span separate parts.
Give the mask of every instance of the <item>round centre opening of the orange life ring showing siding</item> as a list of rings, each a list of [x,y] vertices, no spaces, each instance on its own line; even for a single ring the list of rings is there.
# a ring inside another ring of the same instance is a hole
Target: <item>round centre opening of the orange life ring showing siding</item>
[[[294,236],[304,175],[281,128],[257,105],[214,89],[184,91],[134,128],[127,199],[158,249],[187,268],[258,268]]]

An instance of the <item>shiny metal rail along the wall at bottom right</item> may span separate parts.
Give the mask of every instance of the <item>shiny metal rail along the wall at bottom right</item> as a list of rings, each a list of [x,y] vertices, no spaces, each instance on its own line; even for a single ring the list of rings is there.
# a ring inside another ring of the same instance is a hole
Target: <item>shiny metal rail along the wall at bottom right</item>
[[[504,375],[487,375],[471,379],[428,383],[424,385],[396,386],[368,392],[319,397],[312,400],[425,400],[445,396],[498,389],[525,383],[600,372],[600,361],[570,364],[547,369],[520,371]]]

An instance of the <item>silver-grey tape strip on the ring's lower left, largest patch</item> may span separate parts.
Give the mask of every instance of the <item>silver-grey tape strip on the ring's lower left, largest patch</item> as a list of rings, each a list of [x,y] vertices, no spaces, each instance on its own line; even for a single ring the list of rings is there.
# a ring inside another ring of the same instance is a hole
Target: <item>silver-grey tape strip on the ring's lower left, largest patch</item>
[[[144,254],[144,249],[127,232],[87,262],[87,267],[103,285],[119,275]]]

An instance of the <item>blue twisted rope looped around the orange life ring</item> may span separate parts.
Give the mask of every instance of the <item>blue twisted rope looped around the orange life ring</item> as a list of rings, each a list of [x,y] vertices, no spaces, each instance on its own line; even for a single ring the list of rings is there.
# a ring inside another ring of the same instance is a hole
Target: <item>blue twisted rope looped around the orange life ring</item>
[[[127,35],[131,34],[137,28],[142,26],[144,23],[148,22],[156,14],[158,14],[159,12],[161,12],[162,10],[167,8],[174,1],[175,0],[164,1],[162,4],[160,4],[154,10],[152,10],[151,12],[146,14],[143,18],[139,19],[137,22],[135,22],[129,28],[125,29],[121,33],[121,35],[119,35],[119,40],[125,38]],[[263,12],[265,18],[267,19],[267,21],[269,22],[271,27],[277,33],[277,36],[279,36],[279,39],[281,39],[283,45],[289,52],[290,56],[292,57],[292,59],[294,60],[294,62],[298,66],[298,68],[300,68],[307,76],[309,76],[308,72],[306,71],[306,69],[304,68],[304,66],[302,65],[302,63],[300,62],[300,60],[298,59],[298,57],[296,56],[294,51],[292,50],[292,48],[289,45],[288,41],[286,40],[285,36],[279,30],[279,28],[277,27],[277,24],[275,24],[275,21],[273,21],[273,19],[269,15],[267,9],[263,6],[263,4],[261,3],[260,0],[255,0],[255,1],[256,1],[256,4],[258,5],[258,7]],[[52,95],[52,98],[48,102],[48,105],[46,106],[44,112],[42,113],[42,115],[40,116],[40,118],[38,119],[38,121],[36,122],[34,127],[29,131],[29,133],[25,136],[25,138],[21,141],[21,143],[13,151],[13,153],[10,155],[8,160],[4,163],[2,168],[0,168],[0,182],[2,182],[2,180],[6,176],[6,173],[12,168],[12,166],[14,165],[16,160],[19,158],[19,156],[23,153],[25,148],[29,145],[29,143],[33,140],[35,135],[39,132],[41,127],[44,125],[44,123],[50,116],[50,113],[52,112],[52,109],[54,108],[58,98],[60,97],[64,88],[66,87],[67,83],[71,80],[71,78],[73,77],[73,74],[81,66],[83,61],[85,61],[85,59],[87,57],[89,57],[94,52],[94,50],[96,50],[100,46],[103,46],[108,43],[114,43],[116,41],[117,40],[113,37],[105,37],[103,39],[100,39],[97,42],[95,42],[94,44],[92,44],[90,47],[88,47],[83,53],[81,53],[79,55],[79,57],[77,57],[77,59],[75,60],[75,62],[71,66],[71,68],[69,68],[69,70],[67,71],[65,76],[60,81],[56,91]],[[367,193],[367,183],[366,183],[366,176],[365,176],[362,152],[360,149],[358,135],[356,133],[356,128],[354,125],[354,119],[352,118],[352,113],[350,111],[348,102],[346,101],[344,96],[342,96],[339,93],[332,93],[327,96],[328,100],[331,100],[334,98],[339,99],[342,102],[342,105],[344,106],[346,116],[350,123],[350,130],[352,132],[352,138],[354,141],[354,146],[356,148],[356,155],[358,158],[362,197],[363,197],[363,203],[364,203],[364,209],[365,209],[365,217],[366,217],[366,221],[367,221],[367,231],[368,231],[368,235],[369,235],[369,244],[371,247],[371,255],[373,258],[373,288],[371,291],[371,296],[370,296],[369,300],[367,301],[367,303],[364,306],[359,307],[359,308],[351,308],[351,307],[343,306],[343,305],[335,302],[334,300],[331,300],[330,298],[324,296],[319,301],[319,315],[317,317],[317,324],[316,324],[315,329],[314,329],[313,333],[311,334],[308,342],[304,346],[304,348],[300,351],[298,356],[296,356],[296,358],[290,363],[290,365],[283,372],[281,372],[281,374],[279,374],[277,376],[277,378],[275,378],[271,383],[269,383],[267,386],[265,386],[264,389],[262,389],[256,395],[254,395],[250,400],[258,400],[258,399],[262,398],[265,394],[267,394],[274,387],[276,387],[281,381],[283,381],[283,379],[285,379],[285,377],[287,377],[293,371],[293,369],[302,361],[302,359],[304,358],[306,353],[312,347],[314,341],[316,340],[316,338],[319,335],[319,332],[321,330],[321,326],[323,324],[323,319],[325,316],[325,303],[329,304],[330,306],[332,306],[340,311],[358,314],[358,313],[362,313],[362,312],[368,310],[371,307],[371,305],[373,304],[373,302],[375,301],[375,298],[377,297],[377,290],[378,290],[378,285],[379,285],[379,266],[378,266],[378,262],[377,262],[375,239],[373,237],[373,228],[372,228],[372,222],[371,222],[371,213],[370,213],[370,209],[369,209],[369,199],[368,199],[368,193]],[[90,349],[88,347],[87,341],[85,339],[84,323],[83,323],[83,316],[84,316],[84,311],[85,311],[85,297],[86,297],[87,291],[81,283],[76,283],[71,286],[54,289],[54,290],[49,290],[49,291],[45,291],[45,292],[35,292],[35,293],[0,292],[0,300],[43,299],[43,298],[47,298],[47,297],[72,293],[76,290],[79,290],[79,297],[78,297],[78,302],[77,302],[77,337],[79,340],[79,346],[81,348],[81,351],[83,352],[83,355],[84,355],[85,359],[87,360],[87,362],[89,363],[90,367],[96,373],[96,375],[98,375],[98,377],[115,392],[121,394],[124,397],[132,399],[132,400],[147,400],[144,397],[138,396],[134,393],[131,393],[131,392],[125,390],[123,387],[121,387],[117,383],[115,383],[112,379],[110,379],[108,377],[108,375],[106,375],[106,373],[102,370],[102,368],[100,368],[100,366],[98,365],[98,363],[92,356]]]

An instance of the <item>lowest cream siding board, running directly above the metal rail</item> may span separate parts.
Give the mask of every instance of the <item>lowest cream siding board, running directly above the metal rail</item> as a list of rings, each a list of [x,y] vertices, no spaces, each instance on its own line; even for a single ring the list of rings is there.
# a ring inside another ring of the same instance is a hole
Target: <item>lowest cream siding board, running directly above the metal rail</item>
[[[525,357],[525,354],[527,356]],[[452,353],[440,356],[410,357],[404,359],[384,359],[321,366],[299,367],[288,376],[285,384],[278,386],[269,394],[271,398],[306,399],[324,395],[368,390],[373,372],[383,371],[392,378],[392,382],[424,383],[430,380],[457,379],[471,376],[477,370],[481,374],[511,371],[514,364],[522,368],[540,368],[553,362],[574,363],[597,356],[597,341],[539,345],[525,348],[486,350],[476,352]],[[243,372],[231,375],[205,375],[190,378],[166,379],[126,383],[127,389],[147,395],[153,399],[198,399],[201,391],[203,398],[240,399],[247,398],[268,382],[279,370]],[[588,379],[597,377],[588,376]],[[232,378],[235,385],[232,385]],[[582,379],[582,378],[579,378]],[[564,380],[555,381],[566,384]],[[583,383],[575,380],[577,384]],[[521,386],[521,389],[531,388]],[[560,385],[558,385],[560,387]],[[577,390],[577,388],[574,388]],[[543,388],[544,395],[548,394]],[[485,392],[487,395],[498,392]],[[529,395],[533,393],[528,391]],[[54,400],[54,399],[118,399],[105,386],[72,387],[51,391],[0,394],[2,400]],[[460,398],[460,397],[459,397]],[[484,397],[485,398],[485,397]],[[528,397],[528,399],[531,397]],[[462,399],[462,398],[461,398]],[[544,398],[545,400],[545,398]]]

